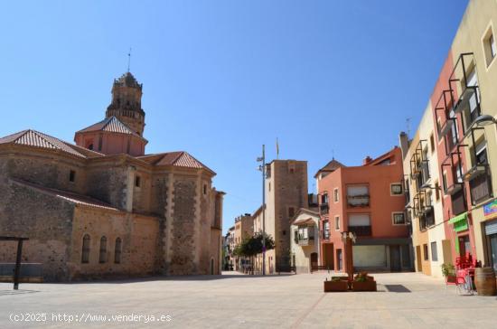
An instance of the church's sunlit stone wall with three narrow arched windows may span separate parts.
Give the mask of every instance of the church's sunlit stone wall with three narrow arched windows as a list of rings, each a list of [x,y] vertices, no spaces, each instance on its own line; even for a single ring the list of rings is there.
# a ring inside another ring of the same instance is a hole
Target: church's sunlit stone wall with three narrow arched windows
[[[89,262],[82,263],[83,237],[90,237]],[[100,259],[101,238],[107,239],[105,261]],[[121,259],[116,263],[116,240],[121,240]],[[142,277],[157,269],[159,221],[123,211],[77,207],[71,240],[71,279]]]

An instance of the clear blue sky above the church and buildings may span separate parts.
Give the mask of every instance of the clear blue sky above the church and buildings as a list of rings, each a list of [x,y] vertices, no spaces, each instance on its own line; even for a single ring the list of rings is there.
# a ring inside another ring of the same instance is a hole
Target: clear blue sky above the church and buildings
[[[261,202],[256,158],[361,164],[415,131],[467,0],[9,1],[0,136],[72,141],[112,80],[144,84],[147,153],[186,150],[227,193],[224,229]]]

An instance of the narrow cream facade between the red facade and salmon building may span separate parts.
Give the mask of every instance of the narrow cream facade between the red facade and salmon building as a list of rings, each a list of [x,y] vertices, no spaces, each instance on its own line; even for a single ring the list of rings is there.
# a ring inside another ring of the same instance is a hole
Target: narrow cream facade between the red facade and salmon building
[[[442,277],[441,265],[452,261],[451,241],[445,239],[442,191],[435,125],[428,104],[415,136],[399,136],[404,165],[406,215],[411,223],[415,268]]]

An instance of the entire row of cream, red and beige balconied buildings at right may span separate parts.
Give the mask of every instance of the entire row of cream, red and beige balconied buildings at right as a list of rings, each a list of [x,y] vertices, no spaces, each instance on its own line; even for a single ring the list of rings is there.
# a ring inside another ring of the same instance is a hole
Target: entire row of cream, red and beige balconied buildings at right
[[[416,265],[426,274],[469,255],[497,269],[496,33],[497,2],[469,1],[417,134],[403,147]]]

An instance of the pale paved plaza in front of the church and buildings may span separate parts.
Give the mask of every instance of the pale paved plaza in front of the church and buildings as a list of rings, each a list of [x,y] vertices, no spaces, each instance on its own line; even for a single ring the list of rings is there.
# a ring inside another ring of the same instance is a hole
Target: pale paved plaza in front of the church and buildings
[[[495,296],[457,296],[440,279],[376,274],[379,292],[324,294],[324,277],[228,273],[22,284],[17,292],[0,283],[0,328],[497,327]],[[26,317],[33,321],[22,321]]]

